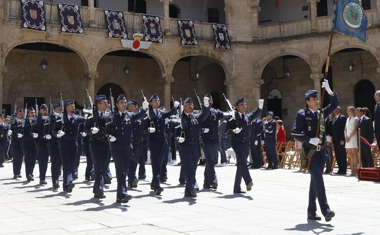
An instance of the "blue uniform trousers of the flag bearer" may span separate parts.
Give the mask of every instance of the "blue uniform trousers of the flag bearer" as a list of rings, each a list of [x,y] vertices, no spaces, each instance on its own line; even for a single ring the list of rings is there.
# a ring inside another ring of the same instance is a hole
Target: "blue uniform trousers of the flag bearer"
[[[330,212],[330,207],[327,204],[325,183],[323,182],[323,169],[325,168],[324,161],[316,161],[319,156],[318,154],[328,154],[327,149],[323,149],[320,152],[315,152],[310,163],[309,173],[310,173],[310,189],[309,189],[309,207],[307,208],[307,215],[313,216],[317,211],[317,204],[315,200],[318,198],[318,203],[321,208],[323,216],[326,216]]]

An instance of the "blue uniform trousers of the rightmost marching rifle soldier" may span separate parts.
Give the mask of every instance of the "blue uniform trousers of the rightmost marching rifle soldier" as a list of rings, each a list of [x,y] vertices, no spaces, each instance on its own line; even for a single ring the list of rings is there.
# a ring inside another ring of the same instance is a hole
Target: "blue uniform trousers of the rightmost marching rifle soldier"
[[[231,142],[231,147],[236,153],[236,176],[234,190],[241,190],[241,179],[244,179],[245,185],[252,181],[252,178],[248,171],[247,157],[249,155],[249,142]]]

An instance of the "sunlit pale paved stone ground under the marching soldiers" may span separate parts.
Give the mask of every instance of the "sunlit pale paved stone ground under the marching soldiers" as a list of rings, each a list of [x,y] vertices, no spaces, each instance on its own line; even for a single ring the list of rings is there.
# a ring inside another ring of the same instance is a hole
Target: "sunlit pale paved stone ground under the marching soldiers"
[[[233,194],[236,166],[216,168],[218,190],[201,189],[197,198],[185,198],[178,185],[180,167],[168,166],[168,181],[162,196],[150,190],[147,180],[130,190],[128,204],[116,203],[116,179],[106,187],[106,198],[93,197],[92,183],[84,180],[86,163],[81,160],[79,179],[72,193],[38,185],[35,181],[11,179],[12,163],[0,168],[1,234],[329,234],[380,233],[380,184],[356,177],[326,175],[328,202],[336,217],[331,222],[307,221],[309,174],[296,169],[268,171],[250,169],[254,187],[245,195]],[[50,168],[50,164],[49,164]],[[48,175],[49,175],[48,168]],[[198,167],[198,184],[203,185],[204,167]],[[115,168],[111,163],[111,172]],[[62,182],[61,182],[62,183]],[[319,206],[318,206],[319,207]],[[321,215],[320,211],[317,212]]]

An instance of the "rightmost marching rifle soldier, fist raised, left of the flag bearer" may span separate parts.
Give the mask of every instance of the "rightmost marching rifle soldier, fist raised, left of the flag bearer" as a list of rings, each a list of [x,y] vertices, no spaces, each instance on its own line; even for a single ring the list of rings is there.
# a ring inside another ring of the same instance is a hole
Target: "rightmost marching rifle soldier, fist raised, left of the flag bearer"
[[[234,193],[245,193],[240,186],[242,178],[247,186],[247,191],[250,191],[253,186],[252,178],[248,171],[247,157],[249,155],[251,121],[260,117],[261,112],[263,112],[264,100],[260,99],[258,103],[258,109],[253,110],[250,114],[245,114],[247,104],[245,104],[244,97],[237,99],[235,117],[227,121],[226,132],[231,135],[231,147],[236,153],[237,163]]]

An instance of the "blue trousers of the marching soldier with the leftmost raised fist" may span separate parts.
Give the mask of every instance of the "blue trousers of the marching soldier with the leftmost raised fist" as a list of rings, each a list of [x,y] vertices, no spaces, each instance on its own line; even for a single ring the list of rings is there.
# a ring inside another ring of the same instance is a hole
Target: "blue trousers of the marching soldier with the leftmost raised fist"
[[[131,161],[132,148],[131,145],[123,145],[124,142],[114,141],[111,143],[112,158],[116,168],[117,190],[116,199],[122,200],[127,193],[127,179],[128,165]]]

